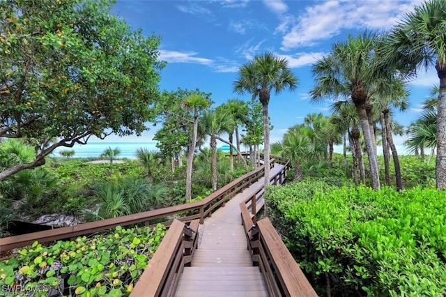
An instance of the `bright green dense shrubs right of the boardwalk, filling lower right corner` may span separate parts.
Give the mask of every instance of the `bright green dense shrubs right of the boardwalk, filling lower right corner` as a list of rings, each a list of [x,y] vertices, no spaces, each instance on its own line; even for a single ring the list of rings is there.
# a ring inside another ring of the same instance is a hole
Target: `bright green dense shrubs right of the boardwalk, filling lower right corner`
[[[319,294],[446,294],[445,192],[339,188],[309,178],[270,188],[267,200]]]

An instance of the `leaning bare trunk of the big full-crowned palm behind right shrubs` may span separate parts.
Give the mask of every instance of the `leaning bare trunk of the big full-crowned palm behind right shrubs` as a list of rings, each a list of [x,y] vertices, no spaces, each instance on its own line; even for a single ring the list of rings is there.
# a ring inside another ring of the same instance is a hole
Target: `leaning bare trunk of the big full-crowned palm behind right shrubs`
[[[370,176],[371,176],[371,188],[374,190],[379,190],[380,182],[379,182],[379,173],[378,173],[378,161],[376,160],[376,145],[374,142],[374,133],[371,132],[369,124],[369,118],[367,116],[367,112],[362,105],[355,105],[357,114],[360,118],[362,133],[364,135],[364,142],[367,148],[367,155],[369,156],[369,167],[370,167]]]

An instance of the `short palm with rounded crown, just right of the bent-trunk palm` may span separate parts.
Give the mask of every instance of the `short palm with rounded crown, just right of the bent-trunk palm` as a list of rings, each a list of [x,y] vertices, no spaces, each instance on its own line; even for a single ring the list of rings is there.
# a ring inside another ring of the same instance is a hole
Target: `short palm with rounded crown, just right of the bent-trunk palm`
[[[203,114],[200,128],[210,136],[210,153],[212,159],[212,190],[217,190],[217,135],[224,132],[231,124],[228,113],[224,109],[211,110]]]

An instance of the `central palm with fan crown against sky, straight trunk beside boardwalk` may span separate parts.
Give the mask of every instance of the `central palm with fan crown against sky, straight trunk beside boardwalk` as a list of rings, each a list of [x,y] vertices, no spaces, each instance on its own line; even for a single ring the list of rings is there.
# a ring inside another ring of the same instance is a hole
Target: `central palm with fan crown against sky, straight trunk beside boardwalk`
[[[270,123],[268,104],[270,92],[280,93],[284,89],[293,91],[298,86],[298,78],[291,72],[286,59],[280,59],[271,52],[254,56],[240,67],[239,77],[234,82],[236,93],[251,93],[259,97],[263,109],[263,151],[265,156],[265,185],[270,183]]]

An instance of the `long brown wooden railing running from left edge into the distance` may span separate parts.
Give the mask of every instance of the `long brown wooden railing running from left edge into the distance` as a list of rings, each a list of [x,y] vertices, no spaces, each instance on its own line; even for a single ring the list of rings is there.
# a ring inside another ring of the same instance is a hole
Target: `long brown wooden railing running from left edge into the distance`
[[[271,159],[271,166],[274,166],[275,160]],[[289,164],[289,163],[286,163]],[[125,215],[119,218],[112,218],[101,220],[98,222],[88,222],[84,224],[77,224],[70,227],[62,227],[46,231],[38,231],[30,234],[23,234],[17,236],[10,236],[0,238],[0,252],[6,250],[13,250],[14,248],[23,248],[26,245],[31,245],[34,241],[39,243],[47,243],[49,241],[58,241],[61,239],[75,238],[86,234],[93,234],[98,231],[105,231],[116,226],[128,226],[131,224],[144,223],[146,226],[151,225],[151,221],[156,219],[166,218],[167,220],[162,224],[169,226],[174,216],[183,222],[190,222],[192,220],[199,220],[203,224],[204,218],[210,217],[217,208],[224,206],[226,201],[241,192],[245,188],[252,185],[263,176],[265,169],[263,165],[252,172],[240,176],[231,183],[224,185],[224,187],[213,192],[211,195],[201,201],[196,201],[187,204],[180,204],[167,208],[160,208],[153,211],[145,211],[143,213],[136,213],[133,215]],[[284,178],[282,176],[281,178]]]

